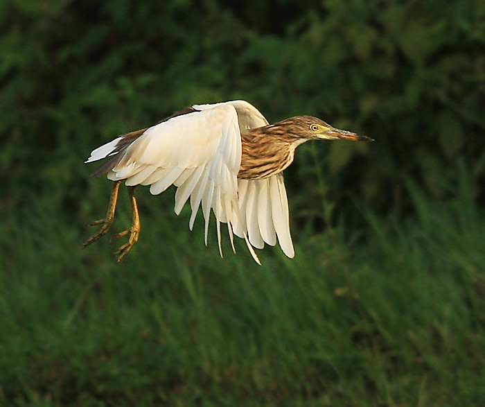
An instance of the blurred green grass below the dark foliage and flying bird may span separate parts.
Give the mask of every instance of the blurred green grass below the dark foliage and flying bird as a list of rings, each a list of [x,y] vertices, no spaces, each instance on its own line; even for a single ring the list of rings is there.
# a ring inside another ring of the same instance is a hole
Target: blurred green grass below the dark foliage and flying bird
[[[38,198],[1,225],[0,404],[482,405],[483,214],[465,175],[446,203],[408,191],[405,222],[295,231],[295,259],[266,248],[261,267],[244,243],[205,248],[187,211],[157,208],[170,193],[140,190],[120,265],[118,242],[80,250],[91,231]]]

